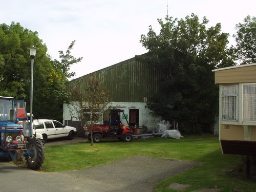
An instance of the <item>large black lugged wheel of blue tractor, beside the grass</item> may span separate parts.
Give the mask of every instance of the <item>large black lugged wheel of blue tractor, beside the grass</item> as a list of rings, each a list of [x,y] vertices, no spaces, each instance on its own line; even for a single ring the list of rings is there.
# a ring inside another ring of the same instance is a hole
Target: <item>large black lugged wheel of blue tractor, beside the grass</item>
[[[39,169],[44,163],[45,151],[42,142],[39,139],[30,139],[27,150],[27,163],[31,169]]]

